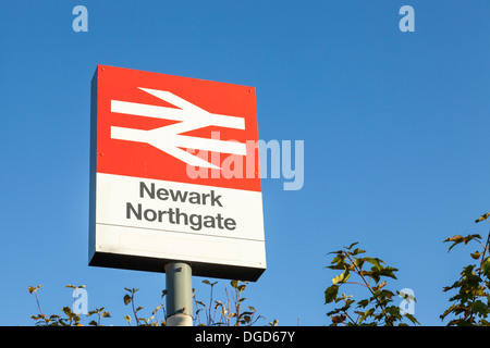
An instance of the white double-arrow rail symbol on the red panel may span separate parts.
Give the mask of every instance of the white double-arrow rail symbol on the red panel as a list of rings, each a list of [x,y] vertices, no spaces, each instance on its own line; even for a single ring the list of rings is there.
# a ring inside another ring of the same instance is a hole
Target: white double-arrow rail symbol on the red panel
[[[218,170],[220,169],[219,166],[191,154],[181,148],[240,156],[246,154],[246,145],[242,142],[181,135],[185,132],[208,126],[245,129],[245,121],[243,117],[207,112],[170,91],[138,88],[180,109],[111,100],[111,112],[181,122],[150,130],[112,126],[112,139],[146,142],[189,165]]]

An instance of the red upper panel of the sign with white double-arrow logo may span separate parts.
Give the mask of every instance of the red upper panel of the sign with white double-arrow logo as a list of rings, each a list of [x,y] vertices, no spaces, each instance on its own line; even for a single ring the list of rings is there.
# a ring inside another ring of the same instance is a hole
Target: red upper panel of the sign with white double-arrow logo
[[[260,191],[255,88],[99,65],[97,173]]]

